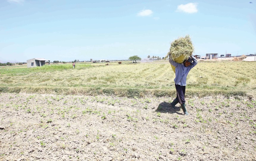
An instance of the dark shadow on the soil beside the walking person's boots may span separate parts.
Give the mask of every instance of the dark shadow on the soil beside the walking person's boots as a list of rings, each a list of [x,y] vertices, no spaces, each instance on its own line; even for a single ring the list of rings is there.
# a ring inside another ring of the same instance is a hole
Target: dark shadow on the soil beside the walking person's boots
[[[179,115],[183,115],[183,112],[181,110],[181,107],[179,106],[179,104],[177,104],[175,106],[175,108],[171,107],[171,103],[168,102],[162,102],[158,105],[157,109],[155,110],[155,112],[161,112],[161,113],[177,113]]]

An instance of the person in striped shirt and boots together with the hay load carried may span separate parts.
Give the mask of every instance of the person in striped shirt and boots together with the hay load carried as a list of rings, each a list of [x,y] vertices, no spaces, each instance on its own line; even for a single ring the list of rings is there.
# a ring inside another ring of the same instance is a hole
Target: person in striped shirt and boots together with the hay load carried
[[[171,43],[170,51],[166,55],[175,73],[175,88],[177,92],[176,99],[171,106],[175,108],[177,103],[181,104],[184,115],[189,115],[185,107],[185,88],[188,72],[197,64],[196,58],[192,55],[194,51],[193,44],[189,35],[179,37]]]

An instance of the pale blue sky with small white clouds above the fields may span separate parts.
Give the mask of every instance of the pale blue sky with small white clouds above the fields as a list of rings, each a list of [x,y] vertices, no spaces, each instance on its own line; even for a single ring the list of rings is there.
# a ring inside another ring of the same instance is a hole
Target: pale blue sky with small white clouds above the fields
[[[0,1],[0,62],[164,57],[187,34],[197,55],[255,53],[256,0]]]

